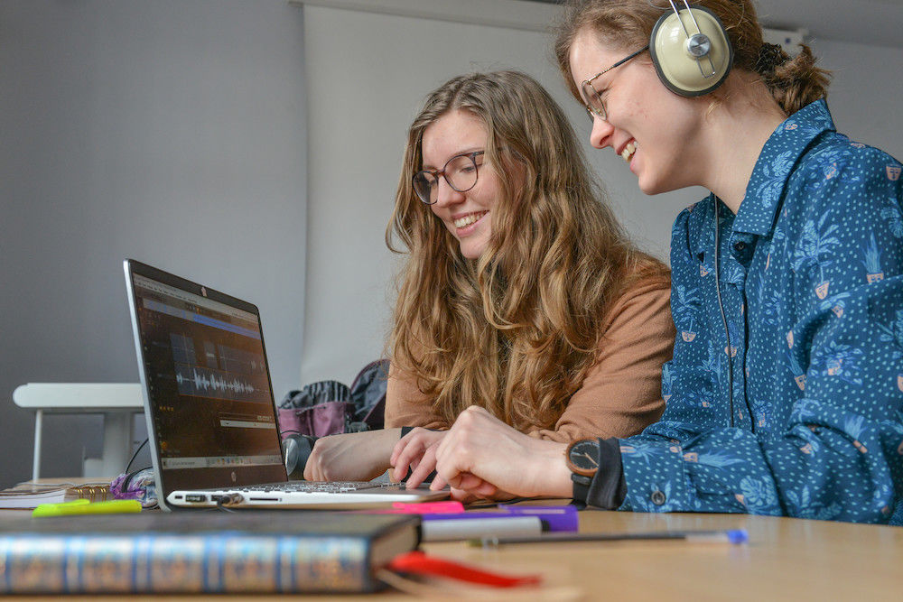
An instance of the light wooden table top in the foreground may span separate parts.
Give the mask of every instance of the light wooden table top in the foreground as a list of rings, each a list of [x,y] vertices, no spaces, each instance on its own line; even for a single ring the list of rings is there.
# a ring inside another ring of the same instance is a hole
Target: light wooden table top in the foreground
[[[6,514],[13,511],[5,511]],[[587,510],[582,533],[746,529],[749,543],[580,542],[474,548],[424,544],[444,558],[513,574],[538,573],[537,589],[472,592],[433,588],[429,599],[488,600],[903,600],[903,528],[744,514],[639,514]],[[183,597],[198,602],[202,597]],[[16,599],[7,597],[7,599]],[[49,597],[20,597],[23,600]],[[59,598],[54,598],[59,599]],[[65,597],[97,602],[97,597]],[[129,597],[129,600],[151,596]],[[237,599],[237,598],[235,598]],[[274,599],[246,597],[242,600]],[[376,596],[307,599],[411,600]]]

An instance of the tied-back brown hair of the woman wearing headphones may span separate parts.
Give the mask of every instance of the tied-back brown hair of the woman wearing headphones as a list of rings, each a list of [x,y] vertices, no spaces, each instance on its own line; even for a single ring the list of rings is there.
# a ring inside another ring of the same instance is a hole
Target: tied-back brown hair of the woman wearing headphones
[[[683,1],[675,3],[683,7]],[[780,46],[765,44],[762,26],[751,0],[694,0],[721,20],[734,51],[733,69],[758,73],[777,104],[792,115],[809,103],[826,98],[830,72],[815,66],[805,44],[790,58]],[[636,51],[649,43],[659,17],[673,11],[667,0],[568,0],[554,27],[554,53],[571,94],[582,102],[573,82],[570,52],[577,34],[596,32],[600,41],[623,51]]]

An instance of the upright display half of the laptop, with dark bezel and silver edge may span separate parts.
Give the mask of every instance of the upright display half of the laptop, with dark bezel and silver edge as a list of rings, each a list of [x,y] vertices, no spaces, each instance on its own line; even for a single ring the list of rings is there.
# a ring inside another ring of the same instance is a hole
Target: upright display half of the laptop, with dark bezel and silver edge
[[[256,307],[127,266],[160,493],[286,480]]]

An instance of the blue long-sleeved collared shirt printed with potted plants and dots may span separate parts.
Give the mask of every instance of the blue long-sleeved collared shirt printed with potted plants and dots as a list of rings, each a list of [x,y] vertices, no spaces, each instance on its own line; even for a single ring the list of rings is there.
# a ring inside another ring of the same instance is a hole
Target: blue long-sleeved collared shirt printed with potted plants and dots
[[[680,214],[666,412],[619,440],[621,509],[903,523],[900,171],[817,101],[768,139],[736,217],[714,196]]]

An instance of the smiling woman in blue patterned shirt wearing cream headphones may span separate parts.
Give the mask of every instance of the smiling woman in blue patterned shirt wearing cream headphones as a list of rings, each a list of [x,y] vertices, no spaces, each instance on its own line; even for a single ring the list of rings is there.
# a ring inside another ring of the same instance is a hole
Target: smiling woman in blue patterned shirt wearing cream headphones
[[[666,412],[568,447],[469,409],[439,475],[456,495],[903,523],[900,163],[835,131],[826,73],[763,43],[749,0],[571,2],[555,48],[591,144],[640,190],[711,191],[673,230]]]

